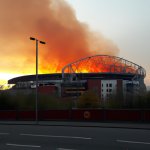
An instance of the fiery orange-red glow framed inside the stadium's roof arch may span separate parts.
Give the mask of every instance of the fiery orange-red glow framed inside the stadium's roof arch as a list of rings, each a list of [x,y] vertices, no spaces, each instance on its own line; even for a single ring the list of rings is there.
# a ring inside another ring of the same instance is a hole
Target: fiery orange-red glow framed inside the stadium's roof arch
[[[69,69],[70,68],[70,69]],[[107,56],[95,56],[92,58],[77,61],[69,65],[65,73],[133,73],[135,74],[138,67],[132,63],[124,63],[121,60]]]

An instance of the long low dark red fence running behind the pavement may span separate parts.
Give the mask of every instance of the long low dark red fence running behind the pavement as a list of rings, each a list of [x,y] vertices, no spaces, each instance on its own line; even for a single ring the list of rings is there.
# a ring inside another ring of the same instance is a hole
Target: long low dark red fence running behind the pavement
[[[149,122],[150,110],[72,109],[38,112],[39,120]],[[0,120],[35,120],[35,111],[0,111]]]

